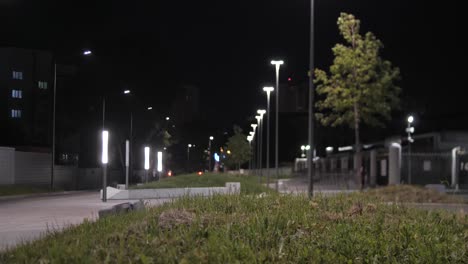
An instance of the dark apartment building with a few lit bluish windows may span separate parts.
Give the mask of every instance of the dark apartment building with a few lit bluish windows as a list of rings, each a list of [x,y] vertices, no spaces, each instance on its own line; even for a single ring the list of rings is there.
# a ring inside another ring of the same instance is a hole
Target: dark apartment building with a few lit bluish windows
[[[50,145],[52,88],[50,52],[0,48],[0,146]]]

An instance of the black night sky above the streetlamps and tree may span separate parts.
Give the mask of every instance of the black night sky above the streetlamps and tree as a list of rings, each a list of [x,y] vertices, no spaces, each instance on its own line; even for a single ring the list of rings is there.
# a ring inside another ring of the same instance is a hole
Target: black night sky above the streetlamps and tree
[[[316,0],[316,64],[328,67],[341,41],[337,17],[353,13],[363,31],[382,40],[383,57],[401,68],[400,114],[455,118],[447,127],[466,128],[457,127],[468,110],[455,3]],[[90,48],[115,79],[154,102],[179,84],[197,85],[204,114],[225,126],[244,122],[264,103],[260,88],[274,82],[270,59],[285,60],[282,80],[306,80],[309,15],[305,0],[0,0],[0,45],[60,56]],[[441,126],[434,124],[427,129]]]

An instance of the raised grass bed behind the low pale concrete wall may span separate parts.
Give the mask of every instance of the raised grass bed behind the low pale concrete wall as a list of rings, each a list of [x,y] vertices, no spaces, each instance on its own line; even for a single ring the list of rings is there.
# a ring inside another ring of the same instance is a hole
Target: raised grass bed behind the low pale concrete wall
[[[222,173],[186,174],[163,178],[160,181],[132,186],[132,189],[185,188],[185,187],[224,187],[226,182],[240,182],[242,194],[270,193],[273,190],[258,184],[257,176]]]

